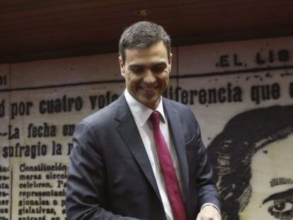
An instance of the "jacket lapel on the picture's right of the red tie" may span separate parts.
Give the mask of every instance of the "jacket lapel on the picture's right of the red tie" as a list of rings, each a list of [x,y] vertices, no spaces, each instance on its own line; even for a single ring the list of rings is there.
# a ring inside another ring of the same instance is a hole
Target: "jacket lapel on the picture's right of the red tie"
[[[183,195],[185,197],[185,202],[188,201],[188,189],[189,189],[189,175],[188,175],[188,163],[186,158],[185,151],[185,139],[183,134],[183,129],[181,126],[180,115],[170,105],[170,102],[166,99],[163,99],[164,112],[168,117],[169,129],[171,129],[171,134],[174,141],[174,146],[176,148],[178,161],[180,164],[180,172],[183,180]]]

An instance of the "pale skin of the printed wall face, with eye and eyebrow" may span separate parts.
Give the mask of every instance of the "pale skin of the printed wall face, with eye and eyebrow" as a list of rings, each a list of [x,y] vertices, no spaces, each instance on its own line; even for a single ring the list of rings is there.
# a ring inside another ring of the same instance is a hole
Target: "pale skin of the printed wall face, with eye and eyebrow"
[[[260,149],[251,161],[251,199],[241,220],[293,219],[293,135]]]

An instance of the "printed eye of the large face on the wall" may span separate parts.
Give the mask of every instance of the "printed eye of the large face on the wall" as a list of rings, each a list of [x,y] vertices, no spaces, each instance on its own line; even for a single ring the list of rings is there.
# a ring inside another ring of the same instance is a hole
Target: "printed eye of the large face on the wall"
[[[293,218],[293,201],[291,199],[278,199],[268,208],[268,212],[277,219]]]

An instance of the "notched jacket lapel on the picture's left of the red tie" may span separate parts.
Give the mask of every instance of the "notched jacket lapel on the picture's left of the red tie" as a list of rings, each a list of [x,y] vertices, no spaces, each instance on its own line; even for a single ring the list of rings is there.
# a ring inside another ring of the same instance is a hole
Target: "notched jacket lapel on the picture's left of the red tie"
[[[134,118],[124,95],[120,96],[119,103],[121,106],[118,108],[119,113],[115,117],[116,120],[120,121],[117,125],[117,131],[125,141],[125,144],[127,144],[139,167],[142,168],[142,172],[146,175],[147,180],[149,180],[149,183],[154,188],[157,197],[161,200],[156,179],[151,169],[151,163],[149,163],[149,157],[146,154],[142,138],[140,137],[137,125],[134,122]]]

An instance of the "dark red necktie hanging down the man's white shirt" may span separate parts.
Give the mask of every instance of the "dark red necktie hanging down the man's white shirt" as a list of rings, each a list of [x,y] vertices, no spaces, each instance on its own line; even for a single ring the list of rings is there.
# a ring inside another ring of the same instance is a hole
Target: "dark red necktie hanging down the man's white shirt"
[[[167,195],[172,207],[174,220],[185,220],[187,218],[183,203],[183,197],[176,176],[175,168],[173,166],[170,151],[160,129],[159,112],[154,111],[151,113],[151,123],[153,124],[156,152],[159,157],[161,171],[163,173],[163,179],[165,180]]]

